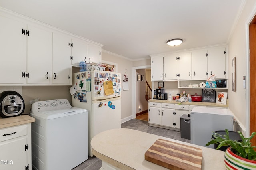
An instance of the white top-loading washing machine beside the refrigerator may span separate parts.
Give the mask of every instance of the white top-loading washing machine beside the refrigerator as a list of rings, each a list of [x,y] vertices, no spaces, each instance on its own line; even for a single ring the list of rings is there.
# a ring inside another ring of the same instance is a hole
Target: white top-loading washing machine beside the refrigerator
[[[88,159],[88,111],[67,99],[32,104],[32,167],[71,170]]]

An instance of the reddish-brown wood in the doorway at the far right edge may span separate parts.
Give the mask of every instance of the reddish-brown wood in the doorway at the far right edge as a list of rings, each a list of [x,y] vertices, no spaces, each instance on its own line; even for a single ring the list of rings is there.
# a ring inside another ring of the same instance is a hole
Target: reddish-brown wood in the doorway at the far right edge
[[[256,132],[256,16],[249,24],[249,49],[250,49],[250,134]],[[251,140],[256,146],[256,137]]]

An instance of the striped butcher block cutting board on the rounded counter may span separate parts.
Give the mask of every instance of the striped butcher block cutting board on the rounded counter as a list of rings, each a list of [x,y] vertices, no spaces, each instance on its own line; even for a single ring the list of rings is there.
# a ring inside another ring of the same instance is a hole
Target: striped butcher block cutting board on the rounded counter
[[[200,170],[202,153],[200,148],[158,139],[146,151],[145,159],[172,170]]]

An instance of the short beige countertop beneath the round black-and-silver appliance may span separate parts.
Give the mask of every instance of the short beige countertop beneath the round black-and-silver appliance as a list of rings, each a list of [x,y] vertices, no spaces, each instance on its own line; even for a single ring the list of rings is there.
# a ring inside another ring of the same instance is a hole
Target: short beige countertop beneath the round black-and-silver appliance
[[[0,117],[0,128],[12,127],[26,123],[35,122],[36,119],[29,115],[20,115],[15,117],[2,118]]]

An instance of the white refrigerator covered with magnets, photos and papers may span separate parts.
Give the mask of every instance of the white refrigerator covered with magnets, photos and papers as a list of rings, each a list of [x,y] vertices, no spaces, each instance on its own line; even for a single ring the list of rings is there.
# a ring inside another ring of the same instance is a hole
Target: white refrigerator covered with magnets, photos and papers
[[[88,110],[88,153],[90,142],[105,130],[121,128],[121,74],[110,71],[73,73],[72,106]]]

